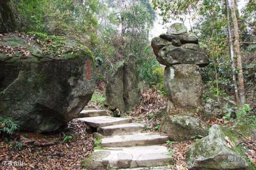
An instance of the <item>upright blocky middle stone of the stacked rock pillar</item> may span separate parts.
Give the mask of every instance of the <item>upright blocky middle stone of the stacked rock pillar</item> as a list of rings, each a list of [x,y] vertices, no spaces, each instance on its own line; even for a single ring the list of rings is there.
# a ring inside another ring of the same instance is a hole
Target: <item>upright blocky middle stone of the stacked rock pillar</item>
[[[169,115],[195,113],[203,109],[203,82],[196,64],[165,67],[164,87],[169,98]]]

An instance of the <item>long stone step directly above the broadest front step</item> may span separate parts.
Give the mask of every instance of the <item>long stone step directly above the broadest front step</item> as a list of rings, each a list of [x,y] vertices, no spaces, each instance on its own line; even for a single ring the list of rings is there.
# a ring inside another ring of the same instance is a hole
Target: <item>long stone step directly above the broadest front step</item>
[[[154,133],[134,133],[114,135],[101,139],[101,147],[133,147],[138,145],[163,144],[169,140],[168,136]]]

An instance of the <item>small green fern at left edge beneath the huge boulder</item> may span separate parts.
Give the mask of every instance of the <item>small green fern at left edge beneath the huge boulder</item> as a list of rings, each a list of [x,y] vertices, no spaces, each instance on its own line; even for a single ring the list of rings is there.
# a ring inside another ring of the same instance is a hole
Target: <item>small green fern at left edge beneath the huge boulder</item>
[[[18,131],[19,125],[13,122],[11,117],[3,118],[0,116],[0,135],[10,136],[15,131]]]

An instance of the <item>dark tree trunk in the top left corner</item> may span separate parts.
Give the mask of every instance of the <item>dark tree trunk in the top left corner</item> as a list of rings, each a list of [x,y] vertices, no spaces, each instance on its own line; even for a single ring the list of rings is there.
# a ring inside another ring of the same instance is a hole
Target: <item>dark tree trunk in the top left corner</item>
[[[15,20],[10,7],[10,0],[0,0],[0,33],[15,30]]]

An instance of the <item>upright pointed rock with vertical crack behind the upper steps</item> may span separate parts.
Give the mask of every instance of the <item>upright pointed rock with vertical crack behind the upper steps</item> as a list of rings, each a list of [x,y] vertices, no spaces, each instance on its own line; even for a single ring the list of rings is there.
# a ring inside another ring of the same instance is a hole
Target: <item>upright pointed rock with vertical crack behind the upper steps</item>
[[[123,113],[131,111],[139,103],[139,75],[136,62],[136,57],[129,54],[111,75],[106,86],[105,106],[118,109]]]

